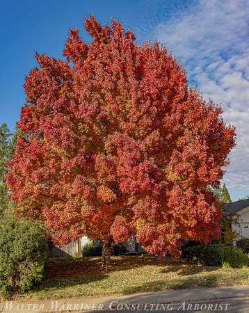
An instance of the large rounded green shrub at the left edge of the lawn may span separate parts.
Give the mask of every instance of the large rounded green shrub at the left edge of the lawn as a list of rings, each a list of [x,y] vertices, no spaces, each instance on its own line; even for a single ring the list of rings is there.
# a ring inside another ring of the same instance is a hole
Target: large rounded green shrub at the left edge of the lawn
[[[41,282],[49,257],[47,239],[38,223],[7,212],[0,218],[0,294],[10,298]]]

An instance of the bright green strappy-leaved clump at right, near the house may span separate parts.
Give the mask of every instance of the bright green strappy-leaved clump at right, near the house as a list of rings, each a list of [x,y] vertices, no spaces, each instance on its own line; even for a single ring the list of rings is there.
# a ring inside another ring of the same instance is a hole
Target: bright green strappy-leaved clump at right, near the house
[[[223,267],[243,267],[248,266],[248,255],[233,246],[223,246],[218,251],[218,261]]]

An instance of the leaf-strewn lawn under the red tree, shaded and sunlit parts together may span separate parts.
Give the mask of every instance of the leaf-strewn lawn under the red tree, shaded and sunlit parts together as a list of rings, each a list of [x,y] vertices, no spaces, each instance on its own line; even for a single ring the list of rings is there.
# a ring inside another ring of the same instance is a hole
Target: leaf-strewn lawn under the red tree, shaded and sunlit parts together
[[[44,282],[22,296],[43,300],[249,284],[249,268],[199,266],[150,256],[112,257],[111,268],[100,264],[100,257],[51,260]]]

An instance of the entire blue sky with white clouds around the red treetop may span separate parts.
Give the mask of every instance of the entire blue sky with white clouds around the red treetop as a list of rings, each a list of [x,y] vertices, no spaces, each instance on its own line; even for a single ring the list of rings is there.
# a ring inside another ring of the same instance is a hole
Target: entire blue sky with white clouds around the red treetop
[[[104,24],[111,16],[129,26],[139,43],[157,38],[182,61],[188,81],[204,99],[223,107],[236,126],[236,147],[223,182],[233,201],[249,195],[249,3],[247,0],[1,1],[0,125],[10,130],[25,104],[24,75],[35,51],[61,58],[70,28],[83,29],[89,12]],[[222,183],[223,183],[222,182]]]

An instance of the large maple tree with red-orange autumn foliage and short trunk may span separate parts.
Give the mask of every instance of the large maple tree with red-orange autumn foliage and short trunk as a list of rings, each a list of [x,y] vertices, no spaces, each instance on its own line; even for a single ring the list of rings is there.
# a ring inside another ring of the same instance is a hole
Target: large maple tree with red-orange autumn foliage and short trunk
[[[6,177],[15,211],[60,245],[87,234],[109,247],[136,234],[147,252],[220,236],[214,194],[234,147],[222,109],[188,87],[165,45],[138,45],[119,20],[70,30],[65,61],[35,54]]]

